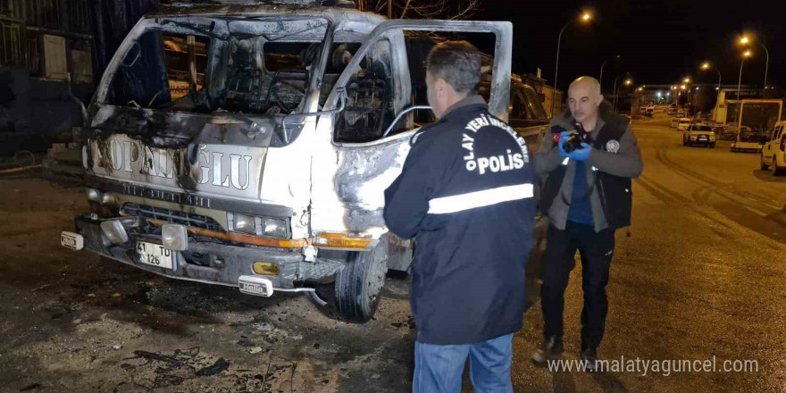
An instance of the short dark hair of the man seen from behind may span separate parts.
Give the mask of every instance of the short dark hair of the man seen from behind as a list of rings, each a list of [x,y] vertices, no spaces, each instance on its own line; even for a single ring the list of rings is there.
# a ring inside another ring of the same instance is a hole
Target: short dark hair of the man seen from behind
[[[469,94],[481,81],[481,53],[466,41],[447,41],[431,48],[426,70],[442,78],[456,90]]]

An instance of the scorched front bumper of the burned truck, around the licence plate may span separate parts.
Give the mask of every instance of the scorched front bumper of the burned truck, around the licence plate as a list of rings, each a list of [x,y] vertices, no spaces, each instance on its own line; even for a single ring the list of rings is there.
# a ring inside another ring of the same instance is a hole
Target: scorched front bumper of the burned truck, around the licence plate
[[[84,249],[173,279],[238,287],[241,276],[254,276],[270,280],[275,290],[300,291],[296,287],[303,282],[330,279],[343,268],[343,263],[333,260],[318,258],[314,263],[305,262],[300,249],[242,247],[194,238],[188,239],[188,250],[172,252],[172,269],[156,267],[138,262],[136,245],[139,240],[162,244],[160,231],[128,230],[127,242],[113,244],[101,230],[104,221],[87,215],[77,217],[76,233],[84,238]],[[275,263],[280,273],[276,276],[255,274],[252,268],[255,262]]]

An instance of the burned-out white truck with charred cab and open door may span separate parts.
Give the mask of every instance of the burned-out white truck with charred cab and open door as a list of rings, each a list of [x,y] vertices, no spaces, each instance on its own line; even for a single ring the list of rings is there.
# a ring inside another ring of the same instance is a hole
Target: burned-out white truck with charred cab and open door
[[[61,242],[256,296],[324,304],[315,287],[333,284],[341,317],[365,322],[413,255],[382,218],[422,126],[406,36],[493,37],[489,106],[506,120],[512,26],[264,3],[138,21],[88,107],[90,211]]]

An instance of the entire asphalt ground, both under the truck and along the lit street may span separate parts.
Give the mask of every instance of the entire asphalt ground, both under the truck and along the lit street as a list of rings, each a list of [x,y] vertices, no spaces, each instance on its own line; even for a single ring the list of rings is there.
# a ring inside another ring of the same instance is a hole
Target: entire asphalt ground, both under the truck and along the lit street
[[[599,348],[639,369],[534,367],[536,304],[514,339],[516,392],[786,391],[786,178],[727,142],[681,146],[667,121],[634,121],[645,169],[630,235],[617,233]],[[17,176],[0,189],[0,392],[411,389],[407,280],[388,280],[375,320],[348,324],[305,297],[248,297],[64,250],[59,231],[87,209],[82,188]],[[566,293],[567,359],[578,358],[580,274]],[[715,372],[652,369],[713,359]],[[727,360],[757,371],[723,372]]]

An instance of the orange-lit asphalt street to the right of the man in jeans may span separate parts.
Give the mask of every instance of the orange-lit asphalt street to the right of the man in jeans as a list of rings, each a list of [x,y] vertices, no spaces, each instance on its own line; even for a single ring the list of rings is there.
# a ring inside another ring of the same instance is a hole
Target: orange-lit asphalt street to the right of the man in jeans
[[[644,172],[633,182],[630,236],[619,230],[601,359],[756,360],[758,372],[588,375],[533,368],[539,307],[515,339],[521,391],[786,391],[786,178],[757,154],[681,144],[668,117],[633,121]],[[566,293],[565,357],[581,344],[581,271]],[[662,363],[661,363],[662,364]],[[673,367],[672,367],[673,369]],[[518,391],[518,390],[517,390]]]

